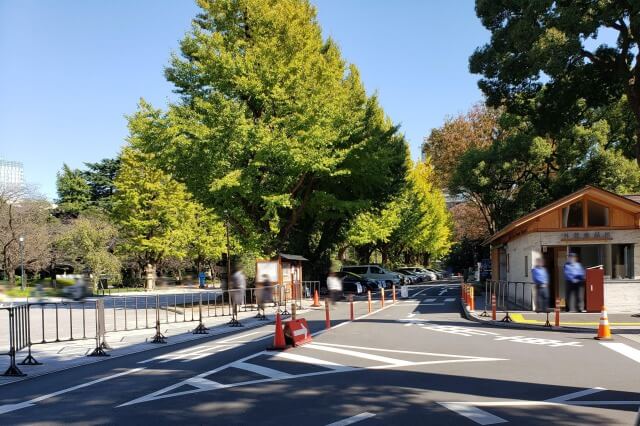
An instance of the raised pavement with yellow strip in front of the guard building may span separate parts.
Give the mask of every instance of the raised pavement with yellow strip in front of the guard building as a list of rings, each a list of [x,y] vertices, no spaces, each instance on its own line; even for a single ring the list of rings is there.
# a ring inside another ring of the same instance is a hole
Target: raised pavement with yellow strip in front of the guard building
[[[484,313],[485,303],[484,295],[476,296],[474,299],[476,309],[472,312],[469,312],[465,308],[465,313],[475,321],[494,323],[494,321],[491,320],[491,305],[487,306],[488,316],[482,316],[482,314]],[[519,308],[514,308],[512,310],[509,310],[509,317],[511,317],[511,320],[513,321],[512,323],[501,322],[501,320],[505,317],[504,310],[497,310],[496,313],[496,320],[500,322],[500,325],[502,326],[514,324],[514,326],[527,325],[531,327],[544,328],[547,330],[549,329],[549,327],[544,327],[547,319],[546,313],[522,311],[519,310]],[[637,314],[607,312],[607,316],[609,318],[609,325],[611,326],[611,329],[624,330],[626,332],[637,330],[637,332],[640,333],[640,308],[639,313]],[[555,314],[553,312],[549,314],[549,321],[552,325],[555,324]],[[568,327],[595,331],[598,329],[599,323],[599,312],[573,313],[560,311],[560,328]],[[552,329],[558,330],[559,328],[554,326],[552,327]]]

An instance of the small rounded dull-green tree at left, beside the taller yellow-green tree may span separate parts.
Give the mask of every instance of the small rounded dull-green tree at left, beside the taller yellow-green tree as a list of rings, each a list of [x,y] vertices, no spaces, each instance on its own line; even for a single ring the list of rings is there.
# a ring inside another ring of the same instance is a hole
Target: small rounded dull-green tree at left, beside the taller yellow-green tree
[[[57,245],[66,258],[91,271],[94,291],[103,275],[119,281],[121,263],[113,253],[117,229],[108,218],[97,214],[82,214],[59,237]]]

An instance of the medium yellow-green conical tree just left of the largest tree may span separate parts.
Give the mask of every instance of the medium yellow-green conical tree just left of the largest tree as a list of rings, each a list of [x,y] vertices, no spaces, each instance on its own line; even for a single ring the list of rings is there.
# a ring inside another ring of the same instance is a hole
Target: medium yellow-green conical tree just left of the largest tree
[[[120,228],[123,254],[133,255],[155,285],[158,262],[183,259],[196,228],[197,205],[185,186],[153,164],[150,154],[127,147],[115,180],[113,218]]]

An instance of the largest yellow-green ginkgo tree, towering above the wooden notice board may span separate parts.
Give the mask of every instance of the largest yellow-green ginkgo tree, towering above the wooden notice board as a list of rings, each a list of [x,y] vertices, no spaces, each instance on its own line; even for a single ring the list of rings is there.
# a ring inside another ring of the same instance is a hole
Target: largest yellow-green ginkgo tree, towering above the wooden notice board
[[[248,251],[315,260],[401,188],[407,146],[306,0],[200,0],[166,70],[181,100],[144,101],[131,142]]]

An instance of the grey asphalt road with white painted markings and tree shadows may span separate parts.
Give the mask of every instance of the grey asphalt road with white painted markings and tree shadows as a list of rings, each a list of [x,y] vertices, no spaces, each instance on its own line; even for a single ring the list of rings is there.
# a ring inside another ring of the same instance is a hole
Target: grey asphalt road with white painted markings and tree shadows
[[[359,300],[354,322],[338,303],[284,352],[270,325],[2,386],[0,424],[634,424],[640,344],[468,322],[458,294]]]

